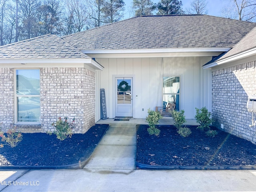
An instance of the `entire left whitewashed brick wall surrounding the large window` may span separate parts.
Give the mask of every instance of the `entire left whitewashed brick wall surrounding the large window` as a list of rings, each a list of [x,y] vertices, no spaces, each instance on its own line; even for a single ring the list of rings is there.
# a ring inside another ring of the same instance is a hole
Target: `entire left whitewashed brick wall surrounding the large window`
[[[14,69],[0,69],[0,121],[14,125]],[[95,124],[95,73],[85,68],[40,68],[40,125],[17,125],[21,132],[53,131],[58,117],[75,118],[74,133],[84,133]],[[6,108],[6,105],[8,108]],[[3,109],[3,110],[2,110]]]

